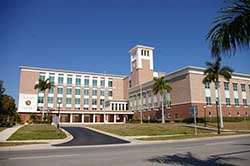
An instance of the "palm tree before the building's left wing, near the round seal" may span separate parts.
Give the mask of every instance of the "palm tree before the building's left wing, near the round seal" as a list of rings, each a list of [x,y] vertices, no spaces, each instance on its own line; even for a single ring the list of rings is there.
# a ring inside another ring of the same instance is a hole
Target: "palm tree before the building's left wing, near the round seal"
[[[46,79],[46,80],[39,79],[38,83],[34,86],[34,89],[38,89],[39,92],[44,92],[44,94],[45,94],[45,91],[47,89],[50,89],[53,87],[54,87],[54,83],[50,82],[49,79]],[[43,103],[45,103],[45,99],[46,99],[46,97],[44,95]],[[44,107],[42,110],[42,119],[44,119]]]

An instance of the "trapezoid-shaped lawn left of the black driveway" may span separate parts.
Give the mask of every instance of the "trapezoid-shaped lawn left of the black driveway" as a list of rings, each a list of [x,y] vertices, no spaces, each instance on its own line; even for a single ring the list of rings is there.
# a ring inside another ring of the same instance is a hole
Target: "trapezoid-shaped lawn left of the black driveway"
[[[66,134],[52,125],[25,125],[18,129],[8,140],[63,139]]]

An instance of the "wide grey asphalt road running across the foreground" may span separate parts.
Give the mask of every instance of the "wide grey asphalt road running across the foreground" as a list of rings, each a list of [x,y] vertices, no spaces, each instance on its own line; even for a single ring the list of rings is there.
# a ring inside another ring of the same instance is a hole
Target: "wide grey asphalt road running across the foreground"
[[[153,144],[0,151],[1,166],[246,165],[250,136]]]

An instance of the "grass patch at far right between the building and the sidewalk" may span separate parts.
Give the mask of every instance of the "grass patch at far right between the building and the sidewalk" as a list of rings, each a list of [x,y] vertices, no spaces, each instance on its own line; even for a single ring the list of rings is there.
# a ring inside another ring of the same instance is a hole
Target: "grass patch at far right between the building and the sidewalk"
[[[199,125],[204,126],[203,123],[199,123]],[[207,127],[217,128],[217,123],[208,123]],[[250,120],[243,120],[241,122],[224,122],[224,129],[250,130]]]

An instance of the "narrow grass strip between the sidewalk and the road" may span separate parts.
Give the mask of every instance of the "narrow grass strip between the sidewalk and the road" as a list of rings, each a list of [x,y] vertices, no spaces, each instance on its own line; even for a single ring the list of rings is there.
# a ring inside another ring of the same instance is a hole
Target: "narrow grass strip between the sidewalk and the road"
[[[141,141],[178,140],[178,139],[203,138],[203,137],[211,138],[211,137],[218,137],[218,136],[241,135],[241,134],[246,134],[246,133],[221,133],[219,135],[215,133],[203,133],[203,134],[198,134],[198,135],[187,134],[187,135],[171,136],[171,137],[138,138],[137,140],[141,140]]]

